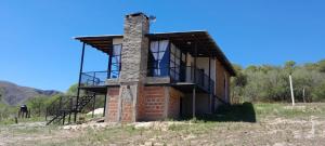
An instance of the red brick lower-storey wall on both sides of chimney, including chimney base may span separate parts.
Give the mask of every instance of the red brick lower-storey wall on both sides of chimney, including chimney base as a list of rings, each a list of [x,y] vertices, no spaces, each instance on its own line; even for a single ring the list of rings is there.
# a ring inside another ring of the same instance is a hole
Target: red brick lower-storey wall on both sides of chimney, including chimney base
[[[121,122],[178,119],[180,117],[180,98],[183,94],[173,88],[139,87],[136,108],[133,107],[133,99],[120,98],[121,101],[119,101],[119,94],[120,88],[108,88],[105,121],[117,122],[120,111]],[[136,115],[135,119],[133,119],[133,114]]]

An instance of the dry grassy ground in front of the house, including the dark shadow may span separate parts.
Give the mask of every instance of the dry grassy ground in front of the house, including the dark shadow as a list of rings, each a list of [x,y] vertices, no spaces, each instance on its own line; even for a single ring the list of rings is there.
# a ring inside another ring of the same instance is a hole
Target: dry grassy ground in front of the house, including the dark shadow
[[[50,140],[23,141],[27,145],[142,145],[152,142],[153,145],[273,145],[275,142],[295,144],[314,144],[325,141],[318,138],[295,138],[295,132],[310,133],[310,117],[315,116],[325,119],[325,104],[289,104],[270,103],[245,103],[242,105],[224,106],[216,115],[198,116],[196,119],[184,121],[169,121],[171,124],[166,129],[135,128],[132,124],[119,127],[107,127],[101,129],[82,129],[77,131],[65,131],[60,127],[14,127],[14,124],[0,125],[1,133],[12,133],[13,140],[20,136],[30,137],[52,136]],[[89,116],[86,116],[88,119]],[[275,119],[283,118],[289,122],[278,122]],[[272,124],[265,122],[272,120]],[[41,119],[26,119],[27,123]],[[43,119],[42,119],[43,120]],[[290,123],[290,120],[294,123]],[[315,134],[325,131],[325,120],[317,121]],[[301,122],[301,124],[299,124]],[[162,122],[164,123],[164,122]],[[165,122],[166,123],[166,122]],[[274,125],[273,123],[276,123]],[[274,134],[268,134],[275,132]],[[317,137],[317,135],[315,136]],[[24,140],[24,138],[23,138]],[[17,141],[20,142],[20,141]],[[321,143],[321,144],[322,144]],[[0,143],[1,145],[1,143]]]

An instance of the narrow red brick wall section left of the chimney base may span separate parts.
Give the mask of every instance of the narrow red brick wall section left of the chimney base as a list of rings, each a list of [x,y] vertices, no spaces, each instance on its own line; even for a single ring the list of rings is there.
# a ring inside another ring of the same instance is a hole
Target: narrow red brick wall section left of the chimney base
[[[107,89],[105,121],[117,121],[119,88]]]

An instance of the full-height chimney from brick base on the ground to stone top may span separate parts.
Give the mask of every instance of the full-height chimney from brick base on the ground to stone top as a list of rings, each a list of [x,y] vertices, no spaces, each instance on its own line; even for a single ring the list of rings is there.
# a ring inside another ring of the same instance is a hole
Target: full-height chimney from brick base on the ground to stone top
[[[141,118],[141,101],[147,69],[150,19],[143,13],[126,15],[121,49],[117,121],[134,122]]]

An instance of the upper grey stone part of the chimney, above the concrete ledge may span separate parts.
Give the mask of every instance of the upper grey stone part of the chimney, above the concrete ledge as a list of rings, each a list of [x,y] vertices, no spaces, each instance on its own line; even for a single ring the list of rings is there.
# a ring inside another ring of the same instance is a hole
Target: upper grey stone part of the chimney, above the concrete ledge
[[[150,19],[144,13],[125,17],[120,82],[140,81],[146,77]]]

